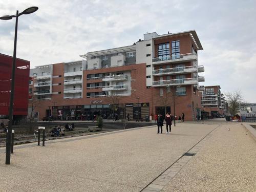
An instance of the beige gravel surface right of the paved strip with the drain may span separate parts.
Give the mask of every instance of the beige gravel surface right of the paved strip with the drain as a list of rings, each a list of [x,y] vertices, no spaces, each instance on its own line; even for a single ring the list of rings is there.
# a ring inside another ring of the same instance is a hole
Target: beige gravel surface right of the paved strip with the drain
[[[223,123],[161,191],[256,191],[255,140],[239,123]]]

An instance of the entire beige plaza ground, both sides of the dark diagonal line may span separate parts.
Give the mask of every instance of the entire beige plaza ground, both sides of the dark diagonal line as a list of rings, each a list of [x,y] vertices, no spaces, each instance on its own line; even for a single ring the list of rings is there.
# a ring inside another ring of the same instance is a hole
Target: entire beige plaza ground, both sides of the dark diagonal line
[[[205,121],[15,146],[11,165],[1,148],[0,191],[256,191],[255,146],[239,123]]]

